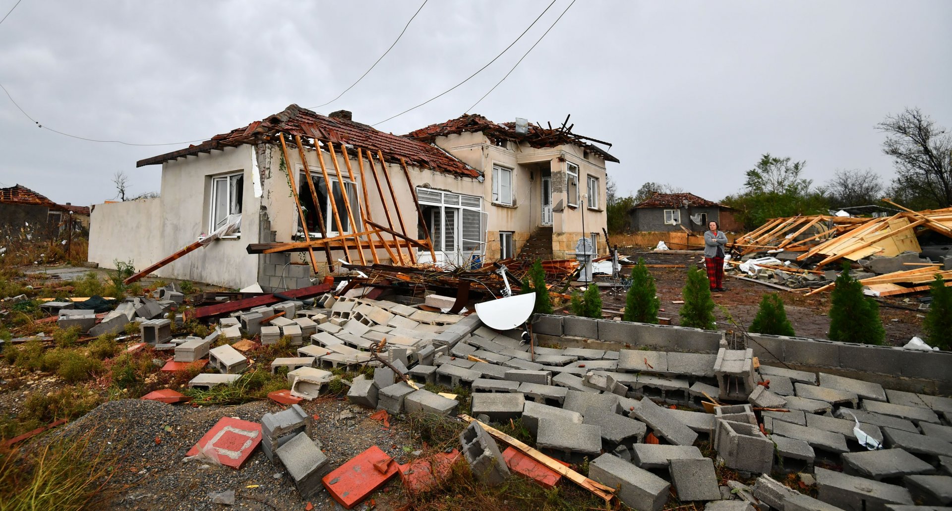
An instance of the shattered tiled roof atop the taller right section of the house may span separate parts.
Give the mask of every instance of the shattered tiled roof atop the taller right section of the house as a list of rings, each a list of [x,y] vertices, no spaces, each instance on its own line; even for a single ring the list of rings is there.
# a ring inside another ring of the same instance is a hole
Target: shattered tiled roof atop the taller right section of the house
[[[542,128],[539,125],[528,123],[526,133],[519,133],[516,131],[516,123],[497,124],[479,114],[465,114],[455,119],[450,119],[445,123],[437,123],[429,125],[426,128],[410,131],[404,136],[413,140],[432,142],[439,136],[463,133],[466,131],[482,131],[490,140],[511,140],[517,143],[526,142],[526,144],[531,147],[556,147],[574,144],[600,154],[605,158],[605,161],[618,163],[618,158],[609,154],[602,147],[595,146],[590,142],[605,144],[605,146],[609,148],[611,144],[591,137],[578,135],[573,133],[571,129],[571,126],[568,128]]]

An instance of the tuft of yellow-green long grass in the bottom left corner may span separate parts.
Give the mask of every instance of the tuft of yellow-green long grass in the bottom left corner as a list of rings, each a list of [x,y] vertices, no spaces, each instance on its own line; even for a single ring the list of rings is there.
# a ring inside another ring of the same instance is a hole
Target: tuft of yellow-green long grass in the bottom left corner
[[[97,507],[108,495],[118,461],[107,442],[93,432],[33,444],[30,449],[0,450],[0,509],[80,510]]]

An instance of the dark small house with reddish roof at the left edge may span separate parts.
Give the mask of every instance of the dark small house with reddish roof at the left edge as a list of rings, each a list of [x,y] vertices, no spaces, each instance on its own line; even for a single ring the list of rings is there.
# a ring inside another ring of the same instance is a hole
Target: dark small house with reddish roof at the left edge
[[[0,188],[0,233],[4,236],[49,239],[59,233],[66,214],[63,206],[28,187]]]

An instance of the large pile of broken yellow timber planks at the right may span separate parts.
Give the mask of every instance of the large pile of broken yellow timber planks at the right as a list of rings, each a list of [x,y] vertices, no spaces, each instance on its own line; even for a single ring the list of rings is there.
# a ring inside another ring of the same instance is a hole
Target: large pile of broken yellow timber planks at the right
[[[775,218],[735,240],[726,270],[808,294],[831,287],[843,260],[873,296],[924,291],[938,275],[952,282],[952,208],[889,217]]]

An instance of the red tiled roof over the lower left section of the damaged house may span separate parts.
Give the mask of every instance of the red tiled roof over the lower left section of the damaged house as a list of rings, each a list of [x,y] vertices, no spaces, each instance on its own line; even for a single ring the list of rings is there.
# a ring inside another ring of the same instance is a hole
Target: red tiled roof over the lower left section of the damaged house
[[[246,127],[215,135],[197,146],[189,146],[140,160],[136,163],[136,167],[162,164],[176,158],[194,156],[199,152],[209,152],[224,147],[276,142],[271,137],[278,133],[290,135],[291,144],[293,144],[293,135],[301,135],[307,139],[314,138],[334,144],[347,144],[373,152],[380,150],[384,153],[385,159],[391,162],[398,162],[400,158],[403,158],[407,165],[414,167],[432,168],[467,177],[481,175],[475,168],[467,166],[439,147],[354,122],[350,120],[350,112],[346,110],[326,116],[297,105],[290,105],[284,111],[270,115],[261,121],[255,121]]]

